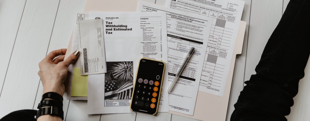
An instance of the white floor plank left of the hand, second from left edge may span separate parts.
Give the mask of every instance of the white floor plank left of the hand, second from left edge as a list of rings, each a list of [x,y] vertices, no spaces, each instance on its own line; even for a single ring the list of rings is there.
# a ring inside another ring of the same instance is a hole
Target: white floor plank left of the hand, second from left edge
[[[32,109],[59,0],[27,0],[0,96],[0,117]]]

